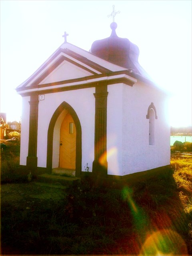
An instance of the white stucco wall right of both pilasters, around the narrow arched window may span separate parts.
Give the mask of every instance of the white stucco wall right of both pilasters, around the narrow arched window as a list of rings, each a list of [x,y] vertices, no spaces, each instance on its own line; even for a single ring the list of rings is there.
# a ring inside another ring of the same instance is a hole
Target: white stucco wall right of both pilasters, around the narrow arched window
[[[148,107],[154,103],[154,145],[149,145]],[[170,164],[168,97],[153,86],[108,86],[108,174],[124,176]]]

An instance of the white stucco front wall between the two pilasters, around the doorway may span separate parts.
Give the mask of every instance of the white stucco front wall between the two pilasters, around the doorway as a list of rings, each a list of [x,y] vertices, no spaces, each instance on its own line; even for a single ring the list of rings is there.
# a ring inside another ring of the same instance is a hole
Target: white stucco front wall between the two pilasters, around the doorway
[[[95,88],[79,89],[66,92],[45,94],[44,100],[38,106],[38,167],[46,167],[47,132],[50,120],[62,102],[67,102],[76,112],[82,128],[82,171],[88,163],[92,171],[94,161],[94,118],[95,118]],[[54,154],[54,152],[53,152]],[[58,152],[54,158],[57,165]]]

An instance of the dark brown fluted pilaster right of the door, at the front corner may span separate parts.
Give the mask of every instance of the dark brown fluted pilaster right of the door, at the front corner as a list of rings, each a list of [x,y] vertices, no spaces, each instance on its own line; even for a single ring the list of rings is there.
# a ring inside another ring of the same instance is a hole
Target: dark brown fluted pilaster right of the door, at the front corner
[[[96,176],[107,175],[107,84],[96,86],[95,96],[95,142],[92,172]]]

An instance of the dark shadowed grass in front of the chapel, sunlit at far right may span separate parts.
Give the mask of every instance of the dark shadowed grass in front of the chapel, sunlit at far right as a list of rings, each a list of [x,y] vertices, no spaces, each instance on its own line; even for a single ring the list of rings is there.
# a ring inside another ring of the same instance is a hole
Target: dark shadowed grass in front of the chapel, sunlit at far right
[[[191,160],[173,157],[172,172],[122,187],[4,184],[3,252],[192,254]]]

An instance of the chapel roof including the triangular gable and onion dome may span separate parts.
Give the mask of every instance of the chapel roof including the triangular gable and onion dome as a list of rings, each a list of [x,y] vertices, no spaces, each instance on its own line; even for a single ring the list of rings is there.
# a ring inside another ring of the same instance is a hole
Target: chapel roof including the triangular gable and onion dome
[[[19,93],[107,81],[134,84],[137,80],[156,86],[138,62],[139,48],[127,38],[116,34],[117,24],[112,22],[110,37],[93,42],[90,51],[66,41],[22,84]],[[70,72],[68,71],[70,70]],[[74,70],[74,72],[72,72]],[[115,78],[114,78],[115,77]]]

